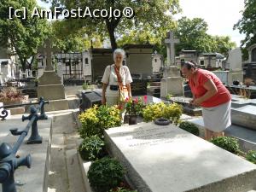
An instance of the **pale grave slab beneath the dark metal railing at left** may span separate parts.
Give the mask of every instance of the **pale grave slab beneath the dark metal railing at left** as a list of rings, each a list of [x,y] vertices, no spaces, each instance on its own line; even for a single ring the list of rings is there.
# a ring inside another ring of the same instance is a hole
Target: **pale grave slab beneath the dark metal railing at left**
[[[32,155],[32,166],[30,169],[26,166],[20,166],[15,171],[15,182],[22,184],[16,186],[17,192],[47,191],[51,121],[52,119],[50,117],[47,120],[38,120],[38,132],[43,137],[42,144],[26,144],[26,140],[31,135],[30,129],[30,132],[17,152],[20,157],[25,157],[27,154]],[[26,127],[27,123],[27,120],[24,122],[21,121],[21,115],[12,115],[10,119],[0,121],[0,143],[9,143],[13,146],[18,137],[12,136],[9,129],[19,128],[19,130],[22,130]],[[3,192],[2,186],[0,187],[0,192]]]

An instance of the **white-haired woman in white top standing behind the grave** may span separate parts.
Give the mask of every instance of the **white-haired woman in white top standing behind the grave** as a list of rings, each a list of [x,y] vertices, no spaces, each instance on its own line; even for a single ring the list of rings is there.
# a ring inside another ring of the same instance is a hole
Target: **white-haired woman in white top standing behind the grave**
[[[128,89],[128,95],[131,97],[131,73],[129,68],[123,66],[125,51],[123,49],[115,49],[113,52],[114,64],[105,68],[102,77],[102,104],[108,106],[118,105],[119,103],[119,81],[115,73],[115,68],[119,71],[123,85]]]

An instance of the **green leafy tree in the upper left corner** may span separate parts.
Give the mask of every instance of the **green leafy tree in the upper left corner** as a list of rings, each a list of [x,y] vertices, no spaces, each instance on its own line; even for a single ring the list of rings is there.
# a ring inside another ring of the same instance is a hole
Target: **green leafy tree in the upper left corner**
[[[14,49],[19,56],[22,70],[26,69],[26,60],[38,52],[38,46],[43,43],[48,34],[47,20],[31,18],[26,20],[15,17],[9,20],[9,7],[21,9],[26,7],[27,15],[37,6],[35,0],[6,0],[0,3],[0,44],[6,48]]]

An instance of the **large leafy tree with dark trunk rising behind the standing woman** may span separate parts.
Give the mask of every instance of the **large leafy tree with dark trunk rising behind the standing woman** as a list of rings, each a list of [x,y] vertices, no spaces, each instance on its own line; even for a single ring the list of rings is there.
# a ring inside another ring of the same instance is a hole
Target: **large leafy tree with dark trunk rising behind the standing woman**
[[[47,0],[44,0],[47,1]],[[127,19],[123,15],[119,18],[86,18],[72,20],[73,29],[86,27],[91,32],[97,32],[102,37],[108,34],[112,49],[117,48],[116,37],[122,34],[127,34],[133,30],[141,30],[147,24],[153,33],[158,32],[160,26],[166,26],[172,20],[171,14],[179,11],[178,0],[53,0],[52,6],[60,5],[65,9],[85,9],[90,7],[90,10],[113,9],[123,10],[125,7],[131,7],[135,16],[132,19]],[[70,21],[70,20],[68,20]],[[71,22],[69,22],[71,23]]]

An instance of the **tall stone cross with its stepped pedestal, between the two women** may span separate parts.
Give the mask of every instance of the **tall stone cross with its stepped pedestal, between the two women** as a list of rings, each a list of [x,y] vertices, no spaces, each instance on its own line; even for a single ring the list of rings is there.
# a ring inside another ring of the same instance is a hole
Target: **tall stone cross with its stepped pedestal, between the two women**
[[[174,44],[179,43],[179,40],[173,37],[173,32],[168,32],[165,43],[167,48],[167,66],[164,67],[164,78],[161,79],[160,97],[165,98],[169,94],[173,96],[183,96],[183,78],[180,76],[180,71],[177,66],[174,65]]]

